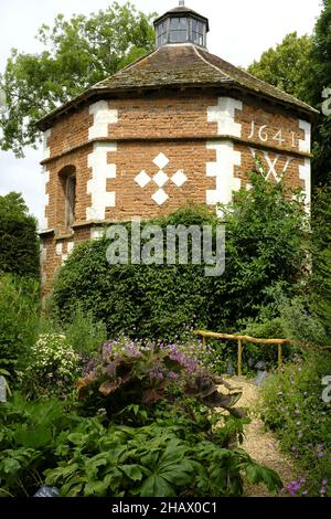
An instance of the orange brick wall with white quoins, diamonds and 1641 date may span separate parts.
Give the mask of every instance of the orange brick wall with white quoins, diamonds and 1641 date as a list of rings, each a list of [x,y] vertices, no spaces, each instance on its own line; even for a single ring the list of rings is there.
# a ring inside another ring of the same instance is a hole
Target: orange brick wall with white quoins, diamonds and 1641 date
[[[102,221],[228,201],[255,155],[271,181],[286,170],[309,192],[309,125],[252,99],[211,93],[111,99],[62,116],[46,133],[43,284]],[[65,176],[76,172],[76,224],[65,227]],[[309,202],[309,195],[307,194]],[[86,224],[87,222],[87,224]]]

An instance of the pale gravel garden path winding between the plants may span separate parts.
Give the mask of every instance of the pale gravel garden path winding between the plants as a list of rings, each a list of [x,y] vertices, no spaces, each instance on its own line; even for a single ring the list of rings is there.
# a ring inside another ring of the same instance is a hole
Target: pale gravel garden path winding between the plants
[[[256,462],[267,465],[276,470],[282,479],[284,486],[296,479],[297,473],[293,462],[286,456],[275,435],[264,428],[258,413],[259,389],[244,377],[231,377],[225,380],[233,386],[243,391],[243,396],[236,404],[238,407],[248,407],[250,424],[245,426],[245,438],[242,447]],[[221,389],[221,388],[220,388]],[[224,391],[224,386],[222,386]],[[264,485],[247,485],[246,494],[249,497],[268,497],[270,494]],[[285,494],[280,492],[280,496]]]

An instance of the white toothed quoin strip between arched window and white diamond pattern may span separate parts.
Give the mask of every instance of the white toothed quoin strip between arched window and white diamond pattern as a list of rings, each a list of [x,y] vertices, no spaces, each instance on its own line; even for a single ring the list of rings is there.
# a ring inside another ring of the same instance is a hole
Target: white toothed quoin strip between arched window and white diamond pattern
[[[86,209],[87,220],[105,220],[106,208],[115,208],[115,192],[107,192],[107,179],[116,178],[116,165],[107,163],[107,155],[117,150],[116,142],[95,142],[88,156],[92,179],[87,182],[87,194],[92,205]]]

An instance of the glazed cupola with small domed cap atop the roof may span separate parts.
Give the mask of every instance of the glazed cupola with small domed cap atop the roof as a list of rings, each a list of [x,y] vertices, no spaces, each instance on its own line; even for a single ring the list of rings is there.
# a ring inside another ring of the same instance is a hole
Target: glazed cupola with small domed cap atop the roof
[[[206,33],[210,30],[209,20],[185,7],[180,0],[179,7],[167,11],[154,20],[157,46],[192,43],[206,47]]]

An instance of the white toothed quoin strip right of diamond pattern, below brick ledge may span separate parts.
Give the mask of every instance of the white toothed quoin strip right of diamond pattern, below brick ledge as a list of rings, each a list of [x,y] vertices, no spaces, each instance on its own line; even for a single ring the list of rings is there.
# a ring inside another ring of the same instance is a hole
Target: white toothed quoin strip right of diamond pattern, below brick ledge
[[[216,162],[206,163],[206,176],[215,177],[216,189],[206,190],[206,203],[228,203],[232,201],[232,192],[241,189],[241,179],[234,176],[234,167],[242,163],[241,152],[234,150],[231,140],[207,142],[207,149],[216,151]]]

